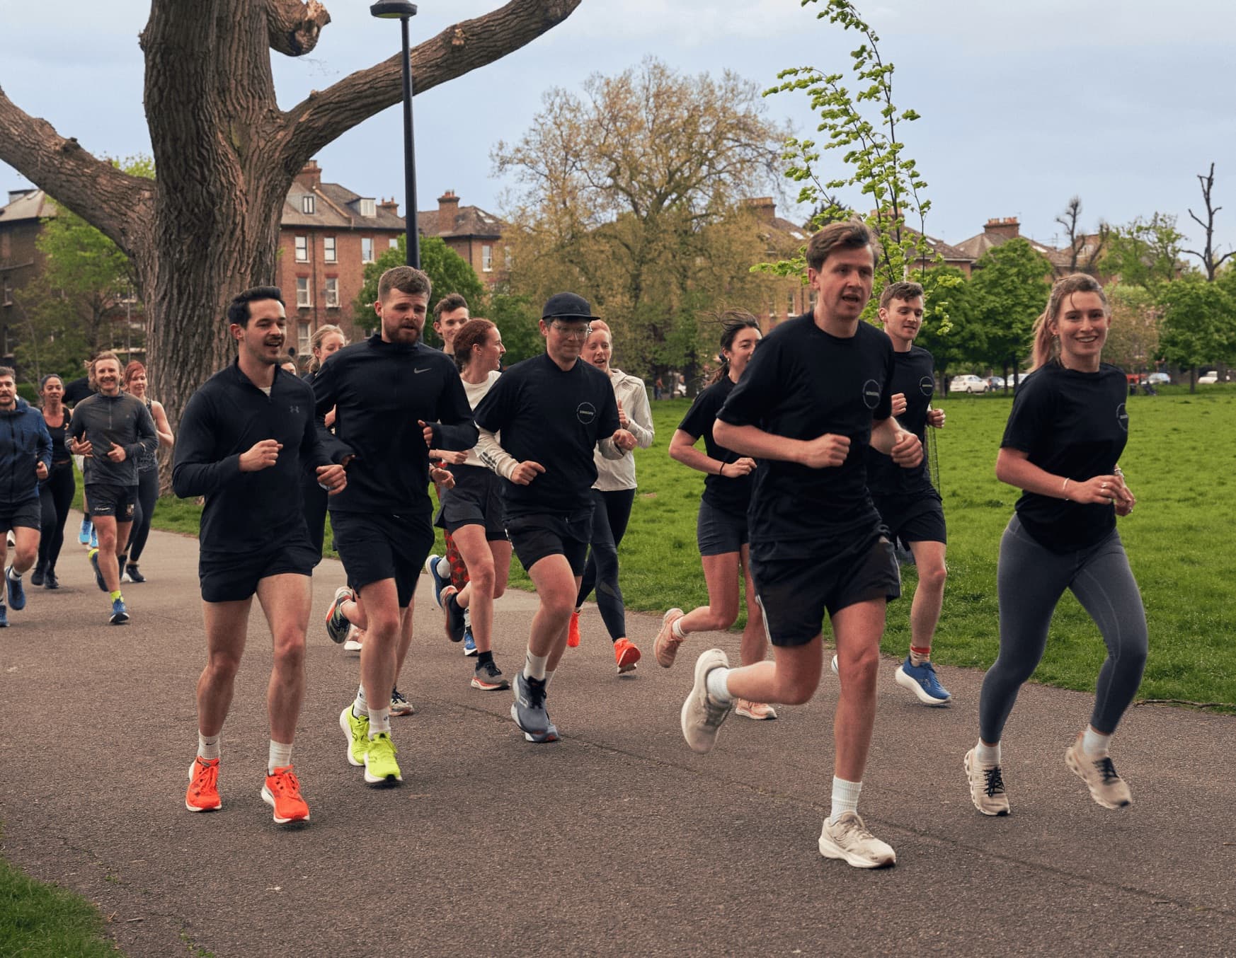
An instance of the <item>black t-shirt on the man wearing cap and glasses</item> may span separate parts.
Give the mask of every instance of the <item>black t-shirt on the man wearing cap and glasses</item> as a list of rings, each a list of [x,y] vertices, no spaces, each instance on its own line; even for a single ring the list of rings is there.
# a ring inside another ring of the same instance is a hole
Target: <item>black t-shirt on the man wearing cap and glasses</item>
[[[502,483],[507,517],[592,508],[592,450],[618,429],[618,402],[601,370],[582,360],[562,370],[548,354],[517,362],[494,381],[473,418],[482,429],[501,431],[502,447],[517,460],[545,467],[527,486]]]

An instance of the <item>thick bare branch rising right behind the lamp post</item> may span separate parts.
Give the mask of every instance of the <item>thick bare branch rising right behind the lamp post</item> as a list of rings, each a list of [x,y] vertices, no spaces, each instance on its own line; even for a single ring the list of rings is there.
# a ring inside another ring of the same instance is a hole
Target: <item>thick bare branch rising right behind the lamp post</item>
[[[566,20],[582,0],[510,0],[475,20],[447,27],[412,51],[413,87],[424,93],[527,46]],[[394,31],[391,42],[397,43]],[[403,64],[391,59],[345,77],[289,110],[284,169],[299,169],[326,143],[399,103]]]

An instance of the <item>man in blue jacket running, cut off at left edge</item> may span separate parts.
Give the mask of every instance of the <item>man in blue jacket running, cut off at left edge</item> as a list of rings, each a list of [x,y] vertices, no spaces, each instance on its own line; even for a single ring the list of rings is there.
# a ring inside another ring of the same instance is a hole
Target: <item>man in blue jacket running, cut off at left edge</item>
[[[11,529],[16,554],[5,567],[5,591],[15,609],[26,607],[21,574],[38,555],[38,483],[51,465],[52,435],[42,413],[17,397],[16,373],[0,366],[0,565],[7,559]],[[0,628],[7,624],[9,609],[0,595]]]

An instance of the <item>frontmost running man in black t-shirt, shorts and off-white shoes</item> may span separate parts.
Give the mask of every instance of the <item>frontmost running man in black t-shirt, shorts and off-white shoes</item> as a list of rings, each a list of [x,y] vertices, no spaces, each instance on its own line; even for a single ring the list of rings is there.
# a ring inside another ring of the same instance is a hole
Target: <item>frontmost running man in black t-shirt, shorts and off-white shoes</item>
[[[832,815],[819,852],[857,868],[896,860],[857,810],[885,604],[901,591],[892,545],[866,491],[864,456],[874,445],[900,466],[922,461],[918,439],[891,415],[892,344],[861,319],[874,261],[863,224],[836,223],[812,236],[813,312],[765,337],[717,415],[713,438],[759,461],[748,514],[751,577],[775,658],[729,669],[721,649],[706,651],[681,714],[687,744],[708,752],[735,698],[806,702],[819,684],[827,613],[842,690]]]

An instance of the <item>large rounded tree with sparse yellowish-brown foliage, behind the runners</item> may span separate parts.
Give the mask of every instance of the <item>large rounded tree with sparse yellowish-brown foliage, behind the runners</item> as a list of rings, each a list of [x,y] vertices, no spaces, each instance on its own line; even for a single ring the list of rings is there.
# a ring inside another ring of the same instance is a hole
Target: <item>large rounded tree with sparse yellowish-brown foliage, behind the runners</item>
[[[524,188],[507,219],[510,288],[531,303],[572,289],[614,331],[635,375],[696,363],[698,315],[759,287],[756,218],[742,200],[775,176],[782,131],[733,73],[682,75],[648,58],[552,89],[518,143],[492,153]]]

